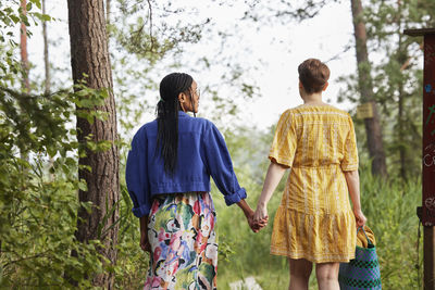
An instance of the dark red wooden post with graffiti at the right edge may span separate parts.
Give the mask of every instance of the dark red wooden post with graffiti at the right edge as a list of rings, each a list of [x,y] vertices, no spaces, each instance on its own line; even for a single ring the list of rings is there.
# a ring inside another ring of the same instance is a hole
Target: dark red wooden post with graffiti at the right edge
[[[423,67],[423,199],[424,290],[435,290],[435,28],[406,29],[409,36],[424,37]]]

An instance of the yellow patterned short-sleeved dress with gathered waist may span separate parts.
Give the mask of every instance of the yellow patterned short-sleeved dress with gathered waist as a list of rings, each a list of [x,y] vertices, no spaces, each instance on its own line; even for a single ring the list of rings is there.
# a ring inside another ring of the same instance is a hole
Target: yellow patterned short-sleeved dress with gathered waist
[[[356,222],[344,176],[358,169],[350,115],[331,105],[285,111],[269,157],[290,166],[271,253],[313,263],[353,259]]]

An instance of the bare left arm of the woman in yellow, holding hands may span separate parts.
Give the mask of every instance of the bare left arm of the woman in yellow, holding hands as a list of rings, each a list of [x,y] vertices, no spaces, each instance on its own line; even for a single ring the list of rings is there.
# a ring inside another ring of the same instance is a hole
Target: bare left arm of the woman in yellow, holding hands
[[[260,199],[257,204],[257,211],[253,215],[253,220],[256,223],[269,218],[268,216],[268,203],[272,198],[273,192],[279,184],[281,178],[283,178],[284,173],[288,167],[271,161],[269,165],[268,173],[265,175],[263,190],[261,191]]]

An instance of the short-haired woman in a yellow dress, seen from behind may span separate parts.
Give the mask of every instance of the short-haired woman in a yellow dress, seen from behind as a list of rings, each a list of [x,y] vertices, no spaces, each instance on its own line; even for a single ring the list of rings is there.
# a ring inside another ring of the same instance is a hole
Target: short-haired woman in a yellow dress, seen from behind
[[[268,218],[268,202],[290,168],[274,219],[271,253],[289,259],[289,289],[308,289],[314,263],[319,289],[338,290],[339,263],[355,257],[356,226],[366,220],[353,123],[347,112],[322,101],[330,78],[324,63],[309,59],[298,72],[303,104],[279,118],[254,220]]]

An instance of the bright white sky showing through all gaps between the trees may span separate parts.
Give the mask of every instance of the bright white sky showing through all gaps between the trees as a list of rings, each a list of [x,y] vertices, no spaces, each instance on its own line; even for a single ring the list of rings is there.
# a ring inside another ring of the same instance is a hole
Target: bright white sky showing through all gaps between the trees
[[[67,8],[64,0],[46,1],[47,13],[57,18],[55,23],[49,24],[49,39],[57,41],[57,46],[50,47],[50,60],[55,66],[63,68],[63,72],[58,72],[53,77],[66,79],[71,74],[70,59],[65,58],[70,51]],[[240,101],[241,122],[249,122],[259,129],[266,129],[278,121],[284,110],[301,104],[297,67],[309,58],[327,61],[338,55],[327,62],[331,79],[324,100],[344,110],[352,109],[350,103],[336,102],[338,91],[343,88],[337,78],[356,72],[355,49],[344,52],[345,47],[353,41],[351,12],[347,1],[331,3],[318,16],[302,23],[293,22],[286,25],[276,23],[272,27],[263,26],[260,29],[239,21],[245,1],[234,1],[235,4],[232,7],[215,5],[213,1],[210,2],[191,0],[199,13],[211,15],[217,27],[237,27],[239,38],[229,40],[228,51],[247,50],[249,53],[241,54],[246,58],[246,62],[261,63],[260,70],[246,72],[260,88],[260,97],[253,101]],[[35,77],[38,74],[42,75],[44,46],[40,29],[41,26],[34,30],[34,36],[28,41],[29,60],[36,65],[30,77],[32,74]],[[191,51],[187,51],[185,55],[196,55],[198,50],[209,49],[203,46],[206,45],[191,46],[187,49]],[[210,46],[210,42],[207,46]],[[211,70],[195,77],[201,86],[215,76],[216,72]],[[223,90],[221,93],[231,94],[231,91]]]

